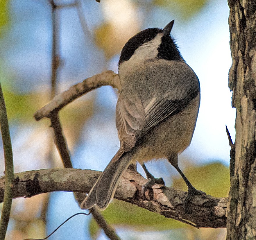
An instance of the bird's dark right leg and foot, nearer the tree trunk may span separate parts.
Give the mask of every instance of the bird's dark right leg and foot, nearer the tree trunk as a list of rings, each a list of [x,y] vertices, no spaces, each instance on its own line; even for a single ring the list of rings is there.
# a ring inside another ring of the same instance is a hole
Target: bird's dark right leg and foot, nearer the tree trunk
[[[188,194],[184,201],[184,208],[187,209],[189,206],[189,203],[191,203],[192,197],[194,195],[206,195],[206,194],[205,194],[205,192],[197,190],[195,187],[193,187],[193,185],[189,182],[189,180],[187,179],[185,174],[182,173],[182,171],[180,170],[180,168],[178,166],[178,155],[177,154],[168,157],[168,161],[171,163],[172,166],[175,167],[175,169],[178,171],[178,173],[180,173],[181,177],[187,184]]]

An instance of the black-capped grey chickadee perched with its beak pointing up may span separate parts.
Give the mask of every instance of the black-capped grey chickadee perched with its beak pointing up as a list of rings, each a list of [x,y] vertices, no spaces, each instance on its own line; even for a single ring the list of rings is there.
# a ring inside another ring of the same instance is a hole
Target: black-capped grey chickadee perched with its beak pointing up
[[[148,28],[124,45],[119,60],[122,86],[116,106],[120,149],[101,173],[82,209],[105,209],[122,173],[131,163],[167,160],[196,190],[178,167],[178,154],[190,144],[200,104],[200,84],[170,36],[174,20],[164,29]]]

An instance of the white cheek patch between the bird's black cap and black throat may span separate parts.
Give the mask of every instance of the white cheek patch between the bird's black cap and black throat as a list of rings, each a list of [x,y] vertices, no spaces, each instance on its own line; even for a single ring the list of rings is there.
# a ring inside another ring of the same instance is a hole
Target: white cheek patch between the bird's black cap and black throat
[[[125,76],[128,71],[133,70],[137,65],[145,61],[155,59],[158,54],[158,47],[161,44],[162,33],[159,33],[149,42],[139,46],[128,61],[119,65],[119,75]]]

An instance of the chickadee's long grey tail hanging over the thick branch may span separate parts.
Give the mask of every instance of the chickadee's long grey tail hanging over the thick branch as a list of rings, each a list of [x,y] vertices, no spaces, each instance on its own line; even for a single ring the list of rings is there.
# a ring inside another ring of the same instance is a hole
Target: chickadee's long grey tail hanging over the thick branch
[[[123,152],[121,149],[117,151],[108,166],[99,176],[88,196],[81,203],[80,207],[82,209],[89,209],[94,205],[100,210],[108,207],[116,191],[118,180],[129,166],[132,156],[132,151]]]

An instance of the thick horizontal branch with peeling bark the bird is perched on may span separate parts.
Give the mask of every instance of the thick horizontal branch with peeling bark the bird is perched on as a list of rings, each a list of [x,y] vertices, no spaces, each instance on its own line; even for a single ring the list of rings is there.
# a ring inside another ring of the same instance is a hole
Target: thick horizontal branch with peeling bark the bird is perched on
[[[31,197],[52,191],[89,192],[100,171],[81,169],[40,169],[15,174],[12,187],[13,198]],[[126,170],[114,198],[133,203],[151,212],[164,215],[182,222],[192,222],[196,227],[224,228],[226,226],[227,198],[214,198],[210,195],[194,196],[189,212],[183,203],[186,192],[179,189],[154,188],[145,194],[142,186],[147,180],[139,173]],[[0,202],[3,201],[5,177],[0,178]]]

